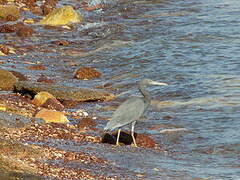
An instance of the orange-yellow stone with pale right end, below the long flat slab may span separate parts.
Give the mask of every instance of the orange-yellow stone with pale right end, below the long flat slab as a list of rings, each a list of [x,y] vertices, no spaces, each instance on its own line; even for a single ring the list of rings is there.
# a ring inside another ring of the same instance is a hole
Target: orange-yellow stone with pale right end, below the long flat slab
[[[63,112],[54,111],[54,110],[48,110],[48,109],[42,109],[40,110],[36,116],[36,118],[43,119],[46,123],[68,123],[69,120],[64,115]]]

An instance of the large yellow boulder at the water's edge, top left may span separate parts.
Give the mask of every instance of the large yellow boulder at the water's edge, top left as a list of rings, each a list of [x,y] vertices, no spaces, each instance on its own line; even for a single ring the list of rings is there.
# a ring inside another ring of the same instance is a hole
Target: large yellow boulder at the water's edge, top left
[[[49,26],[64,26],[71,23],[80,23],[82,16],[78,14],[71,6],[63,6],[54,9],[45,16],[39,24]]]

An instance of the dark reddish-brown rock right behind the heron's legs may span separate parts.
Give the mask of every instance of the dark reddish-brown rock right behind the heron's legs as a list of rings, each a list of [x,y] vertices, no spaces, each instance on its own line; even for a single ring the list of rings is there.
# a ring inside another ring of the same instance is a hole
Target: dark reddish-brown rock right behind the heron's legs
[[[147,135],[134,133],[134,137],[139,147],[154,148],[156,146],[156,143]],[[117,131],[112,134],[106,133],[102,137],[102,143],[116,144],[116,141],[117,141]],[[132,139],[131,133],[121,131],[120,137],[119,137],[119,143],[123,143],[125,145],[132,144],[133,139]]]

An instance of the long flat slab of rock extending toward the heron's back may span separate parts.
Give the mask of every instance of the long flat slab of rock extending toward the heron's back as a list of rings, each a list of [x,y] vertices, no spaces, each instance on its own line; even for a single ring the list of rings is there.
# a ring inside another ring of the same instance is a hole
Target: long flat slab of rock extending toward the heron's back
[[[108,92],[29,81],[17,82],[14,91],[21,94],[30,94],[32,97],[38,92],[47,91],[60,101],[97,101],[112,100],[114,98],[114,95]]]

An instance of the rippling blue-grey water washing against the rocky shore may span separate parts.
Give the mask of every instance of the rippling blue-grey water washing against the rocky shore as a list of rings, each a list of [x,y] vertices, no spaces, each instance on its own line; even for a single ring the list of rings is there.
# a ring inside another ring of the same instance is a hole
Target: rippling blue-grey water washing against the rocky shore
[[[146,179],[240,179],[239,5],[238,0],[108,2],[102,10],[84,12],[86,21],[74,31],[37,27],[40,30],[35,37],[17,41],[49,52],[32,49],[27,55],[12,56],[1,66],[11,69],[14,64],[33,80],[43,73],[70,86],[111,83],[112,92],[123,93],[114,102],[79,106],[104,118],[111,117],[112,111],[101,108],[139,95],[136,82],[141,78],[166,82],[168,87],[148,88],[153,107],[145,114],[147,121],[136,125],[136,131],[151,134],[168,153],[114,149],[105,144],[92,147],[92,152],[123,168],[119,173],[144,173]],[[7,35],[3,40],[12,39]],[[49,49],[49,42],[57,39],[73,44]],[[22,59],[40,61],[48,69],[26,70]],[[102,78],[72,79],[80,65],[96,68]],[[162,101],[169,103],[163,105]],[[159,124],[162,127],[151,130]],[[104,125],[105,121],[98,128]],[[187,131],[160,134],[165,128]]]

